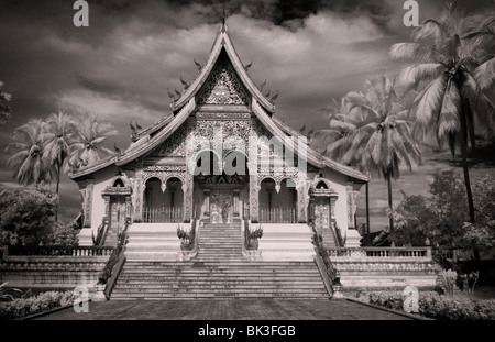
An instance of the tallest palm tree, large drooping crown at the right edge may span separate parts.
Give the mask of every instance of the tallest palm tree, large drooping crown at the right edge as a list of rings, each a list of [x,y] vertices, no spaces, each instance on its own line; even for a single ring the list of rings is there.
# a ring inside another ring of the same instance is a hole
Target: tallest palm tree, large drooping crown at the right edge
[[[470,145],[475,147],[475,120],[484,133],[493,133],[488,114],[493,106],[483,93],[495,81],[495,59],[490,53],[495,12],[490,13],[462,13],[449,3],[439,19],[427,19],[415,30],[414,42],[391,49],[393,58],[416,60],[402,71],[400,82],[425,85],[413,108],[418,136],[435,136],[440,146],[448,142],[452,157],[460,147],[471,223],[474,206],[466,153]]]

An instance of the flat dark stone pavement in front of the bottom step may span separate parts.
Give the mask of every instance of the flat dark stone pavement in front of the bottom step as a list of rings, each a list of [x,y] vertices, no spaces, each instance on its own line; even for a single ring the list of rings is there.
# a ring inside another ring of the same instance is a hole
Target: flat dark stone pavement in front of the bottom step
[[[37,320],[410,320],[349,300],[110,300],[89,312],[63,309]]]

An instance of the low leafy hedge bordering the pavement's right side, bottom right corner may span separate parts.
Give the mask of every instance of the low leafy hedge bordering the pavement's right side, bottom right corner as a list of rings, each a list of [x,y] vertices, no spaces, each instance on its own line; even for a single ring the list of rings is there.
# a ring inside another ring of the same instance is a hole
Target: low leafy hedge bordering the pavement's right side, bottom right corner
[[[400,293],[370,293],[369,302],[404,311]],[[419,294],[419,315],[438,320],[494,320],[495,299],[470,300],[442,296],[435,291]]]

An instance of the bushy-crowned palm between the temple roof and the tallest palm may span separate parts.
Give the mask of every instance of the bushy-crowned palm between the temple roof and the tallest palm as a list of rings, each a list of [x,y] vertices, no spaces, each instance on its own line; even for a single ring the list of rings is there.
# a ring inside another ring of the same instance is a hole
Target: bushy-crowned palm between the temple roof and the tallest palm
[[[400,93],[395,88],[395,79],[383,76],[377,80],[366,81],[365,93],[349,92],[345,98],[354,118],[343,122],[352,125],[352,134],[332,146],[332,151],[341,156],[343,163],[359,165],[362,169],[385,178],[391,212],[392,179],[400,176],[399,165],[405,163],[413,170],[413,162],[420,161],[420,151],[407,118],[410,92]],[[392,214],[388,217],[392,232],[394,220]]]

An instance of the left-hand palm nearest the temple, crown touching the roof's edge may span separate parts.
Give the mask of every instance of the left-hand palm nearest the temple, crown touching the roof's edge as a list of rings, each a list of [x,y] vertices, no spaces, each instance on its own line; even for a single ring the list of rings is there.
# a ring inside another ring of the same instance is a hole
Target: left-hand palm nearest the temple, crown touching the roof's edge
[[[96,164],[103,157],[113,154],[114,152],[102,146],[102,143],[109,136],[118,134],[118,131],[111,123],[86,115],[79,122],[78,130],[75,132],[69,165],[73,168],[78,168]]]

